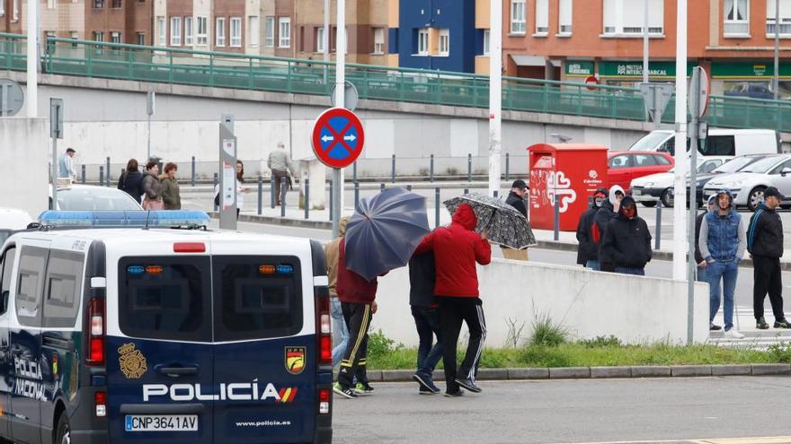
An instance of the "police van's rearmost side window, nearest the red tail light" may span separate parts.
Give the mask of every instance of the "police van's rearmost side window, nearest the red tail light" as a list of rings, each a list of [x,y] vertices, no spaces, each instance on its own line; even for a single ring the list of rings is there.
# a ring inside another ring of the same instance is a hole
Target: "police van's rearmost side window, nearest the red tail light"
[[[83,288],[83,262],[84,255],[80,253],[49,253],[44,326],[75,326]]]

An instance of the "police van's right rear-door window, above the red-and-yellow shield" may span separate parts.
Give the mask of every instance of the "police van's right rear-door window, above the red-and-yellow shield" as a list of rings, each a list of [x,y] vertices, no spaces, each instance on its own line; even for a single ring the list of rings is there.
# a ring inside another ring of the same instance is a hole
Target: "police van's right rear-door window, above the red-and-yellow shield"
[[[297,257],[213,257],[215,340],[296,335],[302,330]],[[273,270],[288,273],[271,273]]]

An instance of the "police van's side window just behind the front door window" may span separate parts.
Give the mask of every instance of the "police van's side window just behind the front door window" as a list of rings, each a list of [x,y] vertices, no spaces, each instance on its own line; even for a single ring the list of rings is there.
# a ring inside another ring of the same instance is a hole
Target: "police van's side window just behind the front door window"
[[[49,251],[22,247],[16,282],[16,318],[22,326],[41,326],[41,292]]]

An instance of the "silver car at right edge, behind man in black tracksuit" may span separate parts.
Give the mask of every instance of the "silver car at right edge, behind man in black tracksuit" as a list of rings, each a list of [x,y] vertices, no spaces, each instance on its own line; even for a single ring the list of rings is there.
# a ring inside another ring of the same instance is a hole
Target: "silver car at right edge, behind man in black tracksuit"
[[[703,195],[708,198],[720,189],[729,188],[735,205],[755,211],[767,187],[777,187],[784,196],[791,196],[791,155],[767,156],[739,172],[713,178],[703,188]]]

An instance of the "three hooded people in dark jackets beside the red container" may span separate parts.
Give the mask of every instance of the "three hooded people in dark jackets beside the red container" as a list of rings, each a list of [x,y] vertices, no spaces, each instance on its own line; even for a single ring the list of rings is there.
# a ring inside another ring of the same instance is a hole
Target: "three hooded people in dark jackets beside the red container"
[[[591,270],[644,275],[653,257],[648,224],[637,215],[635,199],[618,185],[593,194],[577,225],[577,240],[577,264]]]

